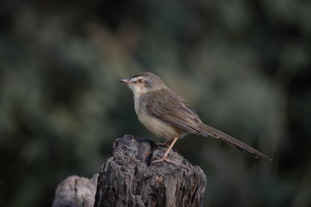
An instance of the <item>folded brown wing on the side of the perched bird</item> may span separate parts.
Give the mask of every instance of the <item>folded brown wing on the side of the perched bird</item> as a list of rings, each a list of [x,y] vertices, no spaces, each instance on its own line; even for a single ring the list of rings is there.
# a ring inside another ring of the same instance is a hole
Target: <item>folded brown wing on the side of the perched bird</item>
[[[169,88],[148,95],[147,112],[169,125],[200,135],[201,120],[197,113]]]

